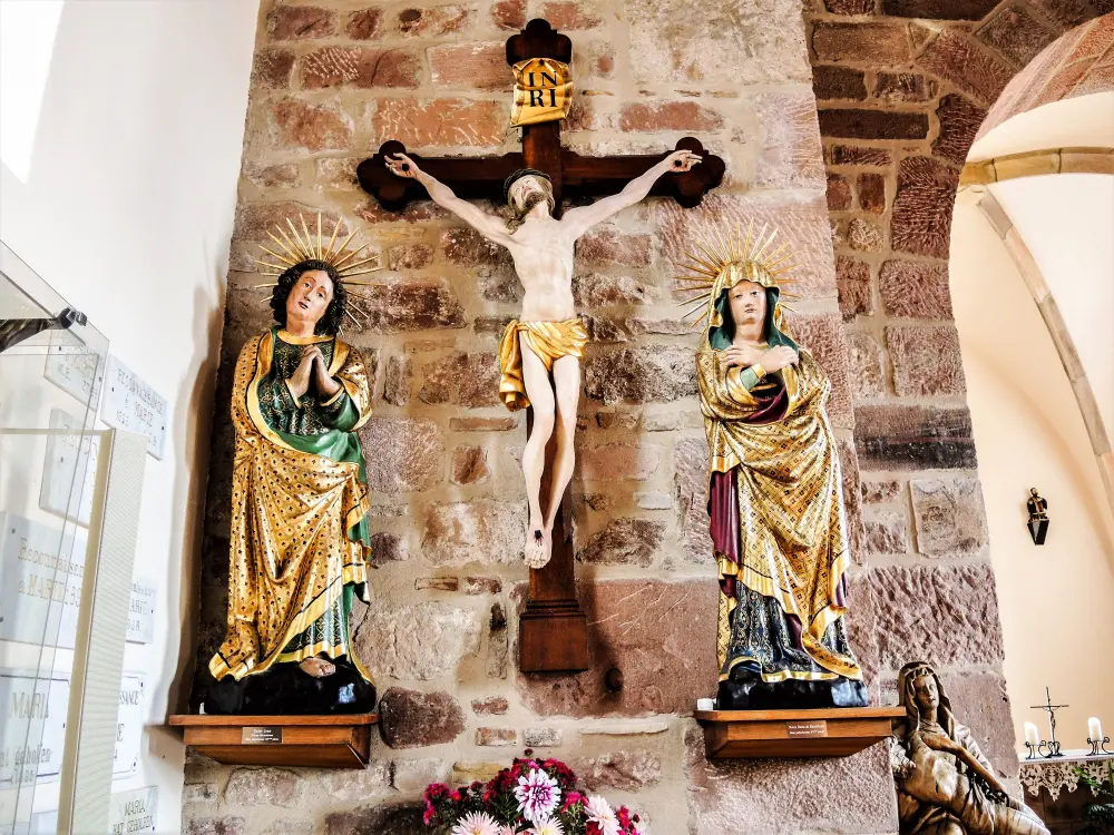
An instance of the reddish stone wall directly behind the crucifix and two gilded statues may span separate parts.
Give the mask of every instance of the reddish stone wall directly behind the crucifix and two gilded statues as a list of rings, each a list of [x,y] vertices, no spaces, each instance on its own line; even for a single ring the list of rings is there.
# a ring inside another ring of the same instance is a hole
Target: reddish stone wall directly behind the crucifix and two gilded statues
[[[578,92],[566,125],[569,147],[661,151],[692,132],[727,160],[727,180],[701,209],[652,200],[578,247],[575,292],[593,337],[573,482],[593,666],[578,676],[525,677],[515,660],[526,579],[518,466],[525,421],[498,405],[495,362],[501,325],[516,314],[520,294],[511,266],[432,205],[402,216],[383,212],[353,177],[356,163],[388,138],[423,154],[515,147],[504,41],[536,14],[574,38]],[[231,370],[244,341],[268,324],[253,289],[260,281],[253,258],[267,226],[320,209],[358,229],[391,268],[381,274],[389,286],[369,305],[369,326],[348,334],[375,373],[377,416],[362,434],[374,504],[375,603],[360,611],[355,644],[382,694],[383,739],[365,772],[190,762],[187,832],[411,832],[412,804],[429,780],[489,774],[527,746],[567,759],[592,788],[642,811],[661,835],[896,828],[881,748],[847,760],[713,766],[688,718],[694,700],[715,689],[716,611],[693,372],[697,338],[677,321],[670,292],[673,261],[691,246],[694,227],[771,220],[799,252],[807,298],[793,325],[833,380],[831,414],[860,540],[851,439],[852,391],[863,383],[847,366],[810,78],[801,8],[792,0],[263,3],[228,277],[197,662],[207,661],[225,619]],[[940,292],[944,301],[919,303],[946,304]],[[895,344],[917,356],[922,337],[909,328]],[[906,383],[920,384],[916,375]],[[971,465],[961,409],[891,412],[864,415],[886,449],[885,439],[910,421],[937,425],[937,413],[950,420],[944,425],[957,440],[930,441],[919,458],[915,442],[881,454],[921,460],[949,450]],[[879,432],[887,421],[893,431]],[[871,436],[864,443],[873,449]],[[975,489],[970,479],[919,481],[909,499],[905,479],[872,482],[871,508],[885,501],[890,515],[873,517],[871,541],[880,529],[910,540],[902,502],[938,519],[941,502]],[[955,544],[939,528],[924,546],[929,553],[981,547],[977,532]],[[956,607],[968,599],[994,615],[981,563],[957,568],[945,557],[934,562],[940,567],[881,569],[867,582],[867,552],[857,557],[851,626],[872,680],[905,648],[887,642],[883,631],[879,660],[871,587],[918,650],[927,640],[912,628],[920,610],[898,605],[898,591],[928,591],[954,611],[940,625],[951,629],[941,639],[946,660],[983,652],[993,666],[993,648],[971,650],[954,629],[980,625]],[[613,666],[625,675],[619,694],[604,687]]]

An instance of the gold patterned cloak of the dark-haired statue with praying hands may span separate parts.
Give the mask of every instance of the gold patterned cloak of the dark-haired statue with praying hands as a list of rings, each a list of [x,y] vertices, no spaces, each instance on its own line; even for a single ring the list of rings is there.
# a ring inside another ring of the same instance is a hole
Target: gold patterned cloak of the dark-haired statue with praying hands
[[[343,646],[305,645],[283,652],[338,605],[346,584],[364,588],[364,546],[348,534],[370,504],[358,462],[300,451],[292,445],[295,439],[284,439],[264,420],[257,389],[273,353],[272,332],[251,340],[233,381],[228,631],[209,661],[215,678],[238,680],[276,661],[301,661],[320,652],[349,655],[359,667]],[[336,340],[329,374],[359,412],[354,431],[371,416],[371,385],[359,353]]]

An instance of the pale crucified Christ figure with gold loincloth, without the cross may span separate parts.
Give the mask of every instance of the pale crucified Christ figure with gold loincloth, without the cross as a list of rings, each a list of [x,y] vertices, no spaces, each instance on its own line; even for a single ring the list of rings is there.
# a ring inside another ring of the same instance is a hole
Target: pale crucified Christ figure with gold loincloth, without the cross
[[[701,161],[687,150],[670,154],[616,195],[590,206],[570,208],[554,217],[556,205],[549,177],[524,168],[504,184],[511,208],[510,220],[463,200],[443,183],[422,171],[410,157],[397,154],[387,167],[399,177],[417,179],[436,204],[453,213],[485,238],[510,250],[515,271],[526,293],[521,320],[507,325],[499,346],[502,379],[499,392],[511,411],[534,407],[534,431],[522,453],[522,473],[530,505],[524,554],[530,568],[549,561],[554,520],[565,488],[573,478],[576,407],[580,397],[580,356],[588,333],[573,302],[573,247],[598,223],[649,194],[668,171],[687,171]],[[551,375],[551,377],[550,377]],[[541,477],[546,444],[557,431],[557,455],[550,479],[549,501],[541,510]]]

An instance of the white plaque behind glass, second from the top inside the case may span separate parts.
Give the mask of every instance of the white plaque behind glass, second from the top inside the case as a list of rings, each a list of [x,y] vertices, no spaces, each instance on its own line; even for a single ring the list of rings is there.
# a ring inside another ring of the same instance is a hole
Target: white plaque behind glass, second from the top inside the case
[[[91,433],[79,434],[84,429],[81,421],[61,409],[50,410],[50,429],[70,430],[74,434],[47,436],[39,507],[67,518],[77,512],[77,521],[88,525],[97,485],[96,461],[100,438]]]

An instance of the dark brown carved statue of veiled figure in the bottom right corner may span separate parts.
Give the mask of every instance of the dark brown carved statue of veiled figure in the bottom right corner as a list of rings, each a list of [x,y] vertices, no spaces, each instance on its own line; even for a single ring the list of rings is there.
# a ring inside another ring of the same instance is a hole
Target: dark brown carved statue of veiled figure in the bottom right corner
[[[970,728],[956,721],[940,677],[924,661],[898,674],[906,709],[890,743],[902,835],[1048,835],[1009,796]]]

